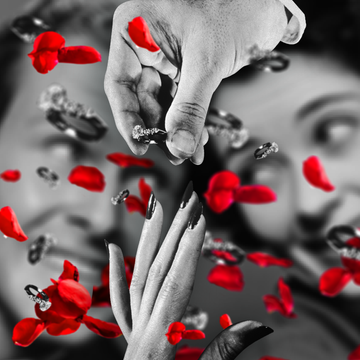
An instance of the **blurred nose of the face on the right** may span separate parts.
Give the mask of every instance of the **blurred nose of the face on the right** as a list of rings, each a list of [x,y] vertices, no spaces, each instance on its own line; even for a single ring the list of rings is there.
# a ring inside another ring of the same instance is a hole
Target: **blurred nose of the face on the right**
[[[301,173],[297,174],[295,188],[296,225],[301,232],[318,233],[329,222],[340,205],[339,192],[325,192],[312,187]]]

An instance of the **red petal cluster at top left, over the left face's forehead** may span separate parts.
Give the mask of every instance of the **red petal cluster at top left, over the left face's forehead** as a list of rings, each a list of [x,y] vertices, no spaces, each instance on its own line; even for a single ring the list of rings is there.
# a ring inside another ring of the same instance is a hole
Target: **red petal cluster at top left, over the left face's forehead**
[[[28,54],[37,72],[47,74],[59,62],[92,64],[101,61],[100,53],[90,46],[65,47],[65,39],[54,31],[40,34]]]

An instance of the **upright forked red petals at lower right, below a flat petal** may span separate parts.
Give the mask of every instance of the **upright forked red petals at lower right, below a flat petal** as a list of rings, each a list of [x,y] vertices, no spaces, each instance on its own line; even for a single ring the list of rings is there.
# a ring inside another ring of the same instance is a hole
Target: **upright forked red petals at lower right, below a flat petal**
[[[264,295],[263,300],[266,310],[269,313],[279,311],[279,313],[287,318],[296,318],[294,314],[294,300],[288,285],[282,278],[278,281],[280,299],[274,295]]]

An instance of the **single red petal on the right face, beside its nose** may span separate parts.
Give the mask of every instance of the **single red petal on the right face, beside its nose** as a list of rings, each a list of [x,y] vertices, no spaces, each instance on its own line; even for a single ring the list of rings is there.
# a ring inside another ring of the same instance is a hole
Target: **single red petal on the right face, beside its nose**
[[[303,162],[303,174],[312,186],[327,192],[335,190],[317,156],[310,156]]]

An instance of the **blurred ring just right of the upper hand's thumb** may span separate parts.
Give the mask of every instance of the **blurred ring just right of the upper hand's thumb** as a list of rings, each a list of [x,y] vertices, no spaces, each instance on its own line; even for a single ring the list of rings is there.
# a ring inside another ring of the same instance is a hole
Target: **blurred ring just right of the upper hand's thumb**
[[[222,123],[214,121],[213,117]],[[235,115],[216,108],[210,108],[205,119],[209,134],[226,138],[232,148],[241,148],[249,139],[249,131]]]

